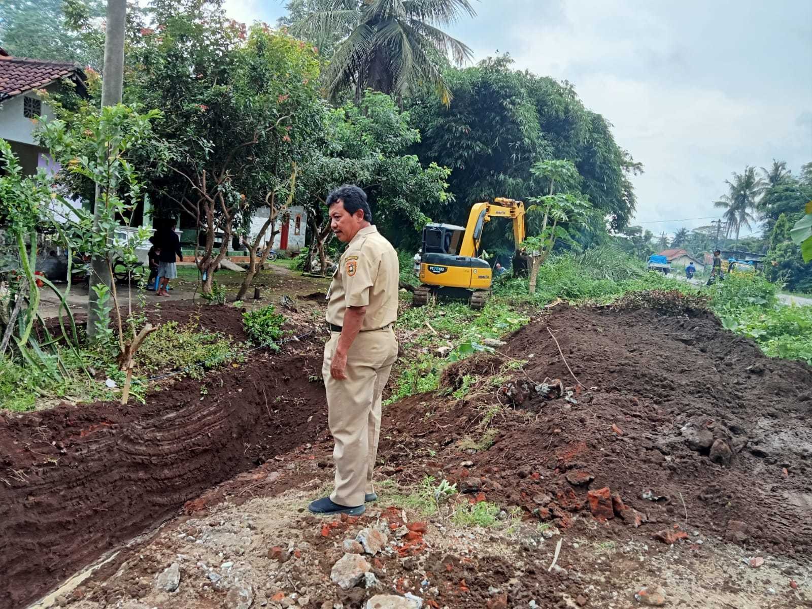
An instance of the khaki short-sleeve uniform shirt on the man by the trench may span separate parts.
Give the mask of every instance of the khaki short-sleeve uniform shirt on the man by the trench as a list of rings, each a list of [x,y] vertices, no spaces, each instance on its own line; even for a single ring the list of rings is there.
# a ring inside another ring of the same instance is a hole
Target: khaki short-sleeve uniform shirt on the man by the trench
[[[343,326],[347,307],[366,307],[361,331],[378,330],[398,316],[400,267],[395,248],[374,226],[352,237],[327,297],[327,322]]]

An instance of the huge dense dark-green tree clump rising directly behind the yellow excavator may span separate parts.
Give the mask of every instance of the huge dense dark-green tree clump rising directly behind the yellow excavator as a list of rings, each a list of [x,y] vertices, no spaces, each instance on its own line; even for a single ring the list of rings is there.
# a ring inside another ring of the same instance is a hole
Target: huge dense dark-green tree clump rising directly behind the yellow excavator
[[[633,214],[628,174],[640,171],[616,145],[608,123],[586,110],[572,85],[513,71],[507,56],[476,67],[446,71],[451,106],[433,97],[412,97],[408,110],[421,132],[413,150],[424,162],[451,168],[456,196],[447,222],[464,222],[477,201],[527,200],[546,192],[530,168],[549,159],[569,159],[581,175],[580,192],[620,230]],[[501,241],[506,247],[509,241]]]

